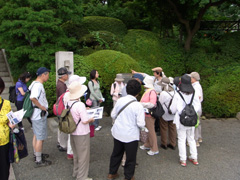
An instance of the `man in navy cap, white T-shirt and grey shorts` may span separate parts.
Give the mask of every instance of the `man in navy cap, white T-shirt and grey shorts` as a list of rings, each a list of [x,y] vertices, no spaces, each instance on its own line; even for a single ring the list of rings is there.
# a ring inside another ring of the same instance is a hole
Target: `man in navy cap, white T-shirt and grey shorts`
[[[50,70],[46,67],[40,67],[37,70],[37,78],[29,86],[31,90],[30,100],[33,104],[33,113],[31,115],[33,128],[33,150],[35,158],[35,168],[49,166],[51,161],[46,160],[49,154],[43,154],[43,142],[47,139],[47,115],[48,101],[43,83],[49,79]]]

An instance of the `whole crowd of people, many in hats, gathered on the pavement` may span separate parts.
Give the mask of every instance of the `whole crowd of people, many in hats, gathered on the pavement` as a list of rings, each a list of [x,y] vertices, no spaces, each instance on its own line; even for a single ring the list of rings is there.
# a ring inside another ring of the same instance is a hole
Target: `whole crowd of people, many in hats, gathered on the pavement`
[[[111,86],[110,94],[113,99],[113,109],[111,117],[113,126],[111,128],[114,139],[114,148],[110,158],[108,180],[116,179],[119,175],[118,168],[122,163],[124,166],[124,176],[126,180],[134,180],[134,171],[136,166],[136,155],[141,129],[148,130],[147,141],[139,146],[142,150],[147,150],[150,156],[159,154],[157,136],[155,132],[156,121],[159,122],[161,133],[160,147],[163,149],[176,149],[178,144],[180,164],[186,166],[187,153],[186,141],[190,146],[189,160],[193,164],[198,164],[197,146],[202,142],[201,123],[197,128],[186,127],[180,123],[180,114],[193,98],[192,105],[201,116],[201,102],[203,100],[202,88],[199,83],[200,76],[197,72],[185,74],[181,77],[166,77],[161,67],[152,69],[153,76],[132,70],[132,79],[124,84],[121,74],[117,74],[115,82]],[[30,99],[34,105],[34,111],[29,119],[33,129],[33,150],[35,158],[34,167],[43,167],[51,165],[48,160],[49,155],[43,153],[43,143],[47,138],[47,116],[48,101],[46,98],[43,83],[49,78],[50,70],[40,67],[37,70],[37,78],[29,87],[26,83],[31,75],[24,73],[16,83],[17,109],[22,108],[23,97],[26,91],[31,90]],[[94,125],[98,131],[102,127],[98,120],[89,118],[85,103],[81,101],[87,89],[90,91],[89,98],[92,101],[91,108],[100,106],[104,101],[100,91],[98,81],[98,71],[90,72],[90,81],[88,87],[84,85],[86,77],[78,75],[69,75],[66,68],[58,69],[58,81],[56,86],[57,99],[63,96],[63,102],[66,108],[72,106],[71,114],[77,125],[76,131],[71,134],[65,134],[58,131],[57,148],[61,152],[67,152],[67,158],[73,159],[72,176],[77,180],[91,180],[88,177],[90,161],[90,125]],[[66,85],[68,82],[68,86]],[[145,92],[139,100],[141,88],[144,86]],[[0,78],[0,94],[5,88],[4,81]],[[183,97],[183,98],[182,98]],[[156,107],[159,101],[165,111],[160,119],[155,119],[149,113],[149,109]],[[8,143],[9,127],[14,128],[6,114],[11,110],[8,100],[0,97],[0,173],[4,179],[9,176],[8,161]],[[24,129],[22,124],[19,128]]]

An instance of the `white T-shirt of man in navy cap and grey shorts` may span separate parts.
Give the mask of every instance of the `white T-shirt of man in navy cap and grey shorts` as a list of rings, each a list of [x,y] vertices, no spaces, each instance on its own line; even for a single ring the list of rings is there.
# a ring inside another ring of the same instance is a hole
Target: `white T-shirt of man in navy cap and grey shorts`
[[[48,101],[46,98],[46,93],[43,84],[38,81],[33,81],[32,84],[29,86],[29,90],[31,90],[30,98],[36,98],[42,106],[48,109]],[[33,106],[36,105],[33,103]],[[40,120],[41,111],[42,110],[39,108],[34,108],[31,120]]]

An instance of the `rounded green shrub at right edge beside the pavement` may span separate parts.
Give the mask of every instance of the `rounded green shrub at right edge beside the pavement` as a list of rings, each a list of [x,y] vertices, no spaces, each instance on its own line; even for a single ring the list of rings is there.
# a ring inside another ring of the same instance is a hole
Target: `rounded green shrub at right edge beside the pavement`
[[[215,117],[235,117],[240,112],[240,67],[209,78],[204,89],[203,112]]]

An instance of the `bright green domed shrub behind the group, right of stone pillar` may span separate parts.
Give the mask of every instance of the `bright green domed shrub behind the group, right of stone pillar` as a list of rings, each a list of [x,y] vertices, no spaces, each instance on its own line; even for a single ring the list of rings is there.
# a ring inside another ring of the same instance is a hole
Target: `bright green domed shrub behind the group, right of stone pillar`
[[[112,107],[110,88],[116,74],[128,73],[131,69],[140,70],[140,66],[127,54],[113,50],[101,50],[86,57],[75,55],[74,69],[75,74],[86,76],[88,80],[90,80],[89,74],[92,69],[99,72],[101,91],[106,99],[104,107],[109,112]]]

